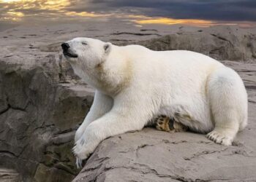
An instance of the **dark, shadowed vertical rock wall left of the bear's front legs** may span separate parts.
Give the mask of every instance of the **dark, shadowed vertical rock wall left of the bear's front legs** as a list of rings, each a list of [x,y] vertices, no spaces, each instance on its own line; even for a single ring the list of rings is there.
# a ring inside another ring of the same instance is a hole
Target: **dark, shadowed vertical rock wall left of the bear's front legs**
[[[56,55],[0,61],[0,163],[23,181],[71,181],[78,173],[74,132],[94,92],[61,79]]]

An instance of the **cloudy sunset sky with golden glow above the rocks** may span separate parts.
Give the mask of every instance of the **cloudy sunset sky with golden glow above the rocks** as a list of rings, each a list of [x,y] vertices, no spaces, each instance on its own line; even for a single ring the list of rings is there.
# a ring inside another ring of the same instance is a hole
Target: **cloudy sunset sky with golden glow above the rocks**
[[[0,26],[122,20],[134,25],[256,25],[256,0],[0,0]]]

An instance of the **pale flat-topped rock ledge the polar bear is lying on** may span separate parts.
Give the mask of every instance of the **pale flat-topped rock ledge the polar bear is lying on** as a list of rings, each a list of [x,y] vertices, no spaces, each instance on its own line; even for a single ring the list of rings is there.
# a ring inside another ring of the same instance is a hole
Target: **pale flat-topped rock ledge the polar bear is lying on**
[[[249,94],[249,126],[233,146],[146,128],[103,141],[74,181],[256,181],[256,64],[225,64],[238,71]]]

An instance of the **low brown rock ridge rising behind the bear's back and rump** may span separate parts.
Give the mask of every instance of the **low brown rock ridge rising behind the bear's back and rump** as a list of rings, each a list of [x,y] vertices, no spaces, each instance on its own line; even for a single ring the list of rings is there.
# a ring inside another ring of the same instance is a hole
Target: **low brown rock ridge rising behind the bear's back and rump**
[[[197,33],[179,31],[138,44],[151,50],[192,50],[217,60],[256,60],[255,34],[241,34],[238,29],[230,27],[199,30]]]

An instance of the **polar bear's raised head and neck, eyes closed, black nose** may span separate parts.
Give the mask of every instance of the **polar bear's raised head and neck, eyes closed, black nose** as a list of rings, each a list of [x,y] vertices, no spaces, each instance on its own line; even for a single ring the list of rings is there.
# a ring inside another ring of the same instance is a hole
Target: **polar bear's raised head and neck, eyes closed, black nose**
[[[92,87],[112,92],[127,82],[124,73],[129,66],[123,61],[123,53],[113,44],[79,37],[64,42],[61,47],[75,74]]]

